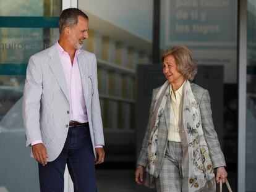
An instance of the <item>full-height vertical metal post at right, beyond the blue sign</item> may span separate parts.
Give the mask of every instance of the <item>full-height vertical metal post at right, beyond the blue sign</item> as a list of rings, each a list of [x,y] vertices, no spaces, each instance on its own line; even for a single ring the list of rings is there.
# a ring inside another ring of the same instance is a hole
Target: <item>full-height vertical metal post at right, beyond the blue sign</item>
[[[238,18],[238,183],[245,191],[246,77],[247,77],[247,0],[239,0]]]

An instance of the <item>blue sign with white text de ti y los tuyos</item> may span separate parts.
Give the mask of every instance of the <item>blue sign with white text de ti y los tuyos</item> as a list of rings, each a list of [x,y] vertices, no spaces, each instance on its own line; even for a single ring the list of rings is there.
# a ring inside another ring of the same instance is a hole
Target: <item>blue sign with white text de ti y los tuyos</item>
[[[166,0],[166,46],[236,46],[236,0]]]

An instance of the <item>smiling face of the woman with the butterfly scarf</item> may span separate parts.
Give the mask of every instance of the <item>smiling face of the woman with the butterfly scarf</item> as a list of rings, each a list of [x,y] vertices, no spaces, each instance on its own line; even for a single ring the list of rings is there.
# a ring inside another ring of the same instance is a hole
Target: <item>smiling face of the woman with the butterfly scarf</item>
[[[174,56],[166,56],[163,61],[163,73],[169,83],[182,83],[184,75],[178,72]]]

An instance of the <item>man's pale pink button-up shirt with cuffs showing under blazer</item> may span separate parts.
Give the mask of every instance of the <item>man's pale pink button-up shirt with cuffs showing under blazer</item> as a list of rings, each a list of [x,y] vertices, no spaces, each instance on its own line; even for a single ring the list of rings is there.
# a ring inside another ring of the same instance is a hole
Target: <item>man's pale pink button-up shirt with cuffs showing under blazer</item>
[[[61,59],[62,69],[66,78],[67,90],[69,91],[69,117],[70,120],[74,120],[80,123],[88,122],[87,109],[85,106],[85,98],[83,94],[82,80],[79,70],[79,64],[77,61],[77,55],[80,50],[75,51],[75,57],[73,65],[69,54],[59,45],[58,41],[56,46],[59,52],[59,58]],[[36,140],[31,143],[34,144],[43,143],[41,140]],[[95,148],[102,148],[103,146],[95,146]]]

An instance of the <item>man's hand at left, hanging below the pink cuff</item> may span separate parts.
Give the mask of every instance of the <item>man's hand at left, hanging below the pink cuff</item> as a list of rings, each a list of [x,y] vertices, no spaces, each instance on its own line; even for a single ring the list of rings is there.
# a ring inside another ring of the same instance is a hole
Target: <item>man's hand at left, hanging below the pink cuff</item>
[[[36,161],[45,166],[47,164],[48,154],[43,143],[34,144],[32,146],[33,156]]]

